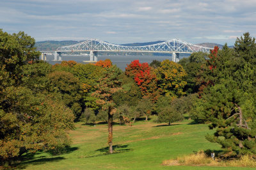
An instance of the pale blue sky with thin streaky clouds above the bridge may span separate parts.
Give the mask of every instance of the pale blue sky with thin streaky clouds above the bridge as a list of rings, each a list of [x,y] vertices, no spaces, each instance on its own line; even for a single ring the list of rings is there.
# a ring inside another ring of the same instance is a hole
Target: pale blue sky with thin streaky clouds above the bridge
[[[0,28],[37,42],[178,38],[233,45],[245,32],[256,36],[256,0],[0,0]]]

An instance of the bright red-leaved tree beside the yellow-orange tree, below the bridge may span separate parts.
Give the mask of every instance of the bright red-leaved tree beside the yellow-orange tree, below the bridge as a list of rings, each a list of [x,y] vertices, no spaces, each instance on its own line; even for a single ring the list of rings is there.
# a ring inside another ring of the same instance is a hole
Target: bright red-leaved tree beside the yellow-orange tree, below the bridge
[[[152,102],[156,102],[160,93],[157,88],[156,73],[153,70],[154,68],[148,66],[148,63],[134,60],[125,68],[125,74],[134,79],[140,87],[143,98],[150,98]]]

